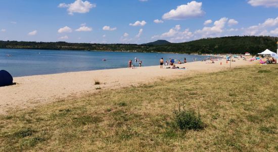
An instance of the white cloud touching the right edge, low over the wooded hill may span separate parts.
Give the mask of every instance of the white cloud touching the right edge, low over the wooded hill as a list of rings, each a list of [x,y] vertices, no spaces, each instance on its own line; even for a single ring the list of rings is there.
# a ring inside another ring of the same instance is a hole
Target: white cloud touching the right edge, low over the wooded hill
[[[275,30],[271,30],[269,28],[271,27],[277,27],[278,26],[278,17],[276,18],[268,18],[263,23],[260,23],[258,25],[253,25],[248,27],[245,30],[245,34],[249,35],[275,35]],[[271,30],[268,32],[268,30]]]

